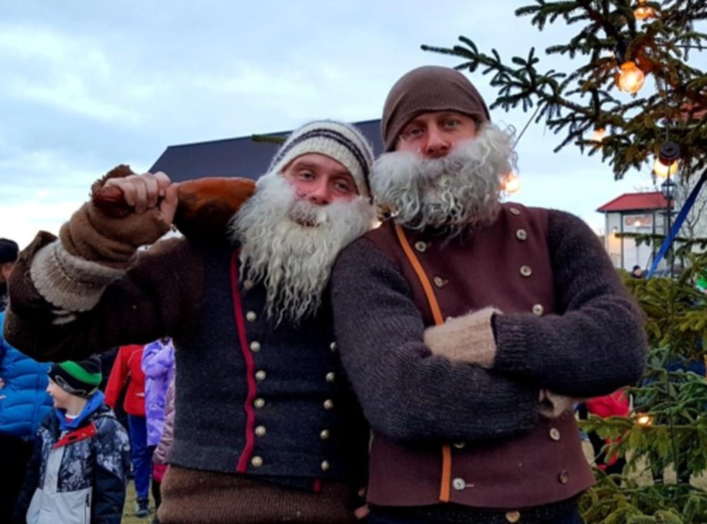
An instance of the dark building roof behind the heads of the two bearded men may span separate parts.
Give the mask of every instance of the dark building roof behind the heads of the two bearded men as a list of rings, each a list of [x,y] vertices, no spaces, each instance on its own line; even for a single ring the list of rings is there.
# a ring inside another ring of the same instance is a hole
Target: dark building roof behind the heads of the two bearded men
[[[380,120],[354,123],[373,144],[375,155],[382,153]],[[267,133],[262,137],[284,137],[291,131]],[[226,138],[211,142],[170,145],[151,167],[163,171],[175,182],[202,177],[246,177],[257,179],[267,171],[279,144],[254,141],[252,136]]]

